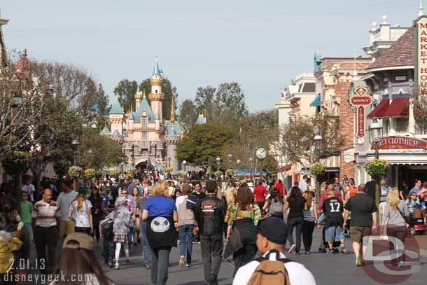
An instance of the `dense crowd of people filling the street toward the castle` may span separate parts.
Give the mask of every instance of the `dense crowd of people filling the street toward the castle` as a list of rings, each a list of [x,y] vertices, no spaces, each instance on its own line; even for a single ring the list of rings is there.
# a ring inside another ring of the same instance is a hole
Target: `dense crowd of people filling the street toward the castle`
[[[41,274],[80,274],[98,282],[93,284],[113,284],[99,265],[95,248],[102,246],[105,266],[120,270],[121,263],[130,263],[130,246],[141,244],[152,283],[167,284],[172,248],[179,246],[179,266],[190,267],[193,246],[200,244],[206,284],[218,284],[223,260],[231,263],[228,258],[235,267],[233,284],[267,284],[262,282],[282,275],[290,284],[316,284],[304,265],[285,256],[294,252],[299,255],[302,245],[304,253],[310,254],[315,228],[323,226],[322,243],[327,254],[346,253],[347,230],[355,263],[361,266],[363,237],[379,228],[384,235],[404,242],[407,226],[413,225],[414,218],[419,221],[421,217],[426,223],[427,187],[419,180],[410,190],[407,183],[406,188],[397,189],[381,181],[379,207],[372,181],[356,187],[346,176],[342,181],[326,182],[320,195],[305,175],[288,190],[280,180],[262,178],[255,187],[245,180],[110,179],[100,185],[76,183],[70,179],[64,179],[60,187],[43,183],[38,200],[34,186],[26,181],[20,203],[2,197],[0,259],[12,260],[1,263],[3,277],[19,273],[13,260],[29,258],[34,242]],[[63,246],[57,259],[60,239]],[[123,253],[124,260],[120,258]],[[81,263],[71,266],[70,256]],[[395,266],[404,263],[402,254],[391,260]],[[71,282],[53,280],[51,284]]]

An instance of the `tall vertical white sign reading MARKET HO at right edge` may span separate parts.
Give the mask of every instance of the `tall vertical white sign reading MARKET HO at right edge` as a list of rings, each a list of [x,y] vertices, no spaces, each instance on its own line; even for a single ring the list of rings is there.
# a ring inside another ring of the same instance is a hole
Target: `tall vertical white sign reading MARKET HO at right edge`
[[[427,90],[427,16],[415,22],[415,86],[421,91]]]

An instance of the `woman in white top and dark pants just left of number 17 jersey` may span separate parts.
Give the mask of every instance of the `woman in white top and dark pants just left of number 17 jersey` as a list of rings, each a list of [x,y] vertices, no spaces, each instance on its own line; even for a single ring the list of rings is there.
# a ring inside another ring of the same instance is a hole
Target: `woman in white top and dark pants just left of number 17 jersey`
[[[313,231],[317,223],[317,205],[316,199],[313,197],[310,191],[304,191],[302,193],[305,204],[302,209],[304,215],[304,221],[302,223],[302,242],[304,243],[305,254],[310,254],[311,244],[313,243]]]

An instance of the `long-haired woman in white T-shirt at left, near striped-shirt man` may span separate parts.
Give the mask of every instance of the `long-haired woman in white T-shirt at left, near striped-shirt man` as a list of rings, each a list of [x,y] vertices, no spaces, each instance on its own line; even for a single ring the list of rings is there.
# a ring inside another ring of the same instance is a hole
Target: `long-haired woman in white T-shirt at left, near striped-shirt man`
[[[74,221],[76,232],[85,232],[87,235],[93,233],[92,203],[86,199],[86,188],[80,188],[76,199],[71,202],[69,218]]]

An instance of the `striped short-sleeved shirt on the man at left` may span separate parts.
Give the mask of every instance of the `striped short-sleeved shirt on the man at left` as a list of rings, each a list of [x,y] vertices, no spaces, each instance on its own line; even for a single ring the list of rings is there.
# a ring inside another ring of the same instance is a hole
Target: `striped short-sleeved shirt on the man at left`
[[[31,217],[36,221],[36,225],[41,228],[50,228],[57,225],[56,219],[61,217],[59,204],[55,201],[46,203],[40,200],[34,204]]]

